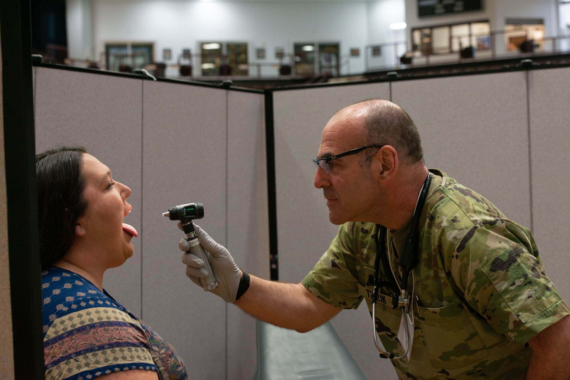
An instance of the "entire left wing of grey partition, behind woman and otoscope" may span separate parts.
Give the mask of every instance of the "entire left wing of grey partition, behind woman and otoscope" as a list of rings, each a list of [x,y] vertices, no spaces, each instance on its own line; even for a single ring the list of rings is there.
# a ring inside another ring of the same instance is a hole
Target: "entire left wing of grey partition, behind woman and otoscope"
[[[184,234],[162,213],[203,203],[198,224],[268,277],[263,93],[36,67],[35,110],[38,151],[84,143],[132,189],[140,236],[105,288],[176,348],[190,378],[250,378],[255,320],[186,278]]]

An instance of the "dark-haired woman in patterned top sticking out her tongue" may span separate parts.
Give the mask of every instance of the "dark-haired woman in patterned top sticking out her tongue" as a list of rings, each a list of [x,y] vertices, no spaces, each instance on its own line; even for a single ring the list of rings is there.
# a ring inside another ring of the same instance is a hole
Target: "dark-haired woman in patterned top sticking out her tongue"
[[[188,378],[176,350],[103,289],[134,251],[131,189],[78,146],[37,155],[36,172],[46,379]]]

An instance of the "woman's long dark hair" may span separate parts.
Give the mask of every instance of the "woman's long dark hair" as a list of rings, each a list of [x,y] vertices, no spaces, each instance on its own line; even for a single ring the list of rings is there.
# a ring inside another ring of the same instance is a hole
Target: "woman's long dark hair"
[[[83,196],[83,146],[62,146],[36,155],[39,246],[42,270],[62,258],[75,241],[75,224],[87,209]]]

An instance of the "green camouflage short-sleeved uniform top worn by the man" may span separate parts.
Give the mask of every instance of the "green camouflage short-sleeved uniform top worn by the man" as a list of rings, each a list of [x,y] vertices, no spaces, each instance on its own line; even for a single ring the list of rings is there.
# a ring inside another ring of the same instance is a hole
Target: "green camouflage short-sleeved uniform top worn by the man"
[[[415,287],[412,357],[392,360],[396,373],[418,380],[524,379],[531,356],[528,340],[570,309],[545,275],[528,229],[445,173],[430,171],[435,176],[422,209],[421,253],[413,279],[410,275],[409,288],[412,281]],[[398,282],[398,252],[410,224],[411,218],[384,239]],[[357,308],[365,299],[372,311],[378,232],[372,223],[340,226],[303,285],[336,307]],[[380,265],[380,282],[389,281],[388,271]],[[391,293],[380,290],[376,330],[386,350],[401,354],[401,311],[392,309]]]

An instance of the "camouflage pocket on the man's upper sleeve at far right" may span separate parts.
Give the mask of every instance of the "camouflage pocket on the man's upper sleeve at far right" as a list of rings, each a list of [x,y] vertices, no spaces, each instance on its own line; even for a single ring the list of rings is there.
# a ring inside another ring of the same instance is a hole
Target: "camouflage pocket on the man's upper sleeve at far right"
[[[482,271],[522,323],[558,301],[542,263],[520,246],[497,255]]]

